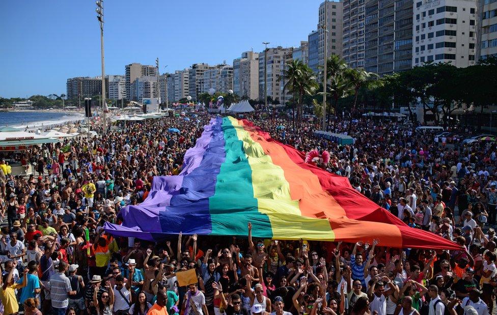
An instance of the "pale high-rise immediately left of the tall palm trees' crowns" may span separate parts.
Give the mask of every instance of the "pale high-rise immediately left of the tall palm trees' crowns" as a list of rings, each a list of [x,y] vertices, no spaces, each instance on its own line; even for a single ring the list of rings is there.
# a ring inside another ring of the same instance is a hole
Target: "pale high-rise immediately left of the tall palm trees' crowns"
[[[282,100],[280,75],[286,60],[292,58],[293,47],[267,48],[267,61],[264,51],[259,52],[259,99],[264,100],[264,64],[267,67],[267,96],[275,101]]]

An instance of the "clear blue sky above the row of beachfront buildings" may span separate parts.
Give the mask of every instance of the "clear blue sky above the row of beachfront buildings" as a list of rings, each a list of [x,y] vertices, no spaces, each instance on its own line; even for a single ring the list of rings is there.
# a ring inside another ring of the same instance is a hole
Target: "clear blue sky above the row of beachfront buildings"
[[[105,73],[133,62],[161,73],[242,51],[298,46],[316,29],[321,0],[105,0]],[[66,93],[66,79],[96,76],[100,36],[92,0],[0,1],[0,96]],[[167,69],[164,66],[168,65]]]

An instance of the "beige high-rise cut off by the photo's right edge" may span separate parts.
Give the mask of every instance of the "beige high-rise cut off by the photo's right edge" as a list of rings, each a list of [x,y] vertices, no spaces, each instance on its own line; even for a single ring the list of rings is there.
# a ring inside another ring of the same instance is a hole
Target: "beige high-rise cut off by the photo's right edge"
[[[478,6],[477,58],[497,56],[497,0],[480,0]]]

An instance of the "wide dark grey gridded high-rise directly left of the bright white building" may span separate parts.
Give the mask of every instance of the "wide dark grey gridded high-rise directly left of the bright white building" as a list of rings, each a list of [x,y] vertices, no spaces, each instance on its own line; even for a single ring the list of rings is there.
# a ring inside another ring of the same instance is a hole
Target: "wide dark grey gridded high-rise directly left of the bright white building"
[[[365,65],[379,75],[411,68],[412,1],[366,0]]]

